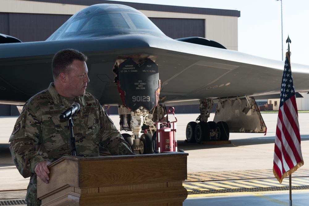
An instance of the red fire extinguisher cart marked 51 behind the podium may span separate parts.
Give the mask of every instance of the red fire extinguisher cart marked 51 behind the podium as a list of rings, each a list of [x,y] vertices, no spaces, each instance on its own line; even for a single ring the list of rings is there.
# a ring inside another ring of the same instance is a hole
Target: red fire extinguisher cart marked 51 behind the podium
[[[168,108],[167,113],[159,122],[155,122],[156,132],[152,136],[151,145],[153,153],[163,152],[184,152],[183,149],[177,150],[176,122],[177,118],[174,113],[174,107]],[[175,121],[163,122],[168,114],[173,114]]]

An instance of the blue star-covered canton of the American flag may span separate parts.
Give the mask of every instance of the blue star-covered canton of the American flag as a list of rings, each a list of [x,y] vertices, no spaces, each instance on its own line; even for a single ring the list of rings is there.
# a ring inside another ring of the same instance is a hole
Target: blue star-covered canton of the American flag
[[[291,65],[290,65],[290,54],[289,54],[286,55],[286,60],[284,63],[279,108],[283,105],[283,103],[287,99],[289,99],[293,95],[295,95],[295,89],[293,84]]]

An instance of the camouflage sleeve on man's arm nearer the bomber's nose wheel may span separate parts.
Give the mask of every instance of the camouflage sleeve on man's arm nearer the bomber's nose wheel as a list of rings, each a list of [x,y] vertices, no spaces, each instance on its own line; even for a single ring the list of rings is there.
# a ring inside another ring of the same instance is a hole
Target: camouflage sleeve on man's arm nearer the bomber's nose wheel
[[[100,144],[106,147],[111,155],[129,155],[134,154],[130,145],[121,136],[112,120],[108,117],[103,107],[100,107]]]

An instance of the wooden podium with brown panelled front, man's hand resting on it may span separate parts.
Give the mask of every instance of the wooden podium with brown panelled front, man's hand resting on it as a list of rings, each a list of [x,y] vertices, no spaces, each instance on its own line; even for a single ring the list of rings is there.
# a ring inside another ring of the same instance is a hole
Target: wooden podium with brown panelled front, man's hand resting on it
[[[37,179],[47,205],[182,205],[188,192],[188,153],[82,158],[65,156],[50,164],[49,183]]]

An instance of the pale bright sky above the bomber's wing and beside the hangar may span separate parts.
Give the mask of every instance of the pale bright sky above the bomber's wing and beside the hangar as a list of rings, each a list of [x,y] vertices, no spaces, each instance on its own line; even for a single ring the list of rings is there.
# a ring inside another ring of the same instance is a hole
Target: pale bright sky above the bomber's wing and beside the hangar
[[[118,0],[115,0],[118,1]],[[240,11],[238,51],[269,59],[282,59],[281,1],[276,0],[119,0]],[[290,44],[291,62],[309,65],[308,0],[282,0],[283,58]],[[219,42],[220,43],[220,42]],[[293,65],[292,65],[293,66]]]

